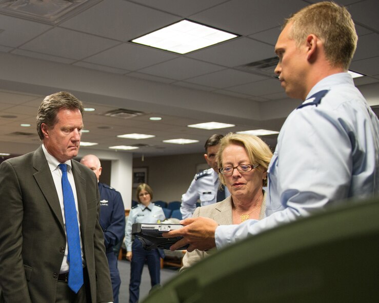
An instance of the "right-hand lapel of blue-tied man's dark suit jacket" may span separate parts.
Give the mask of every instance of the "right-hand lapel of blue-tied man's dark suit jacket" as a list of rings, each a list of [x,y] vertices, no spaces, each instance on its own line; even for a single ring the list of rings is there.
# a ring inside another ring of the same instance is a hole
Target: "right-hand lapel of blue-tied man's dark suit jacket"
[[[82,237],[85,235],[85,226],[87,225],[87,199],[86,199],[86,180],[82,177],[78,163],[71,160],[72,174],[74,175],[77,206],[79,208],[79,219],[81,223]]]

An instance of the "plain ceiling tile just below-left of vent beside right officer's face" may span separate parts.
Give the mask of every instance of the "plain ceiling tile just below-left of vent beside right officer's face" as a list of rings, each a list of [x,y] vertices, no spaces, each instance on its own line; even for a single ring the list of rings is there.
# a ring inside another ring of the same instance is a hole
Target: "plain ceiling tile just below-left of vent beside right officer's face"
[[[214,73],[187,79],[186,82],[207,85],[214,88],[226,88],[263,79],[266,79],[266,77],[233,69],[224,69]]]

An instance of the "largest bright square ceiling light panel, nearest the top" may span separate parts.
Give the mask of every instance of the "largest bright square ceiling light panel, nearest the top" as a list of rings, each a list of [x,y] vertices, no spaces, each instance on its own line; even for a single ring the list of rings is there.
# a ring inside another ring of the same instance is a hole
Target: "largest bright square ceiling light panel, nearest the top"
[[[189,20],[182,20],[150,34],[135,38],[131,42],[174,53],[186,54],[235,37],[238,37],[238,35]]]

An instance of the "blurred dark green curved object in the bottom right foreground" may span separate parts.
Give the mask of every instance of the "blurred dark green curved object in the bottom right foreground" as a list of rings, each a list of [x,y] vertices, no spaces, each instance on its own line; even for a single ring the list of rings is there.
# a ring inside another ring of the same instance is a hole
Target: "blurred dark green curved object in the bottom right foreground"
[[[198,262],[143,303],[376,302],[379,199],[250,236]]]

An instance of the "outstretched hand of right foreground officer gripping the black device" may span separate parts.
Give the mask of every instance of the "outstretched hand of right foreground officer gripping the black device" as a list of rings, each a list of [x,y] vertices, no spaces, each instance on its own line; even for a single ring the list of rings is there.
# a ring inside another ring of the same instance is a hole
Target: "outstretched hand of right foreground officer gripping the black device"
[[[183,239],[173,244],[170,250],[176,250],[187,244],[189,244],[187,248],[189,252],[195,249],[208,250],[216,246],[214,233],[218,224],[214,220],[196,217],[181,220],[180,223],[185,226],[162,234],[165,238],[183,236]]]

